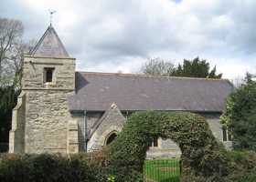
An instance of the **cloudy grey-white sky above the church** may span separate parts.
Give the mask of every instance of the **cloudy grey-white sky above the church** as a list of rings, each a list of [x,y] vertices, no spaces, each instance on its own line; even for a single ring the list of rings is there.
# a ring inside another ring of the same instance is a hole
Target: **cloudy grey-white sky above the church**
[[[77,70],[137,72],[148,57],[207,59],[224,77],[256,73],[256,0],[1,0],[25,38],[53,26]]]

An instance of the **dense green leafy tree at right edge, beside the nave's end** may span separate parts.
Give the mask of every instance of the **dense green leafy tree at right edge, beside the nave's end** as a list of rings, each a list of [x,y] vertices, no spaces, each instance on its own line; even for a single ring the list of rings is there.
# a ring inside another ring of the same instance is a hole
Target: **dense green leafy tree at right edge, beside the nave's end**
[[[235,148],[256,151],[256,82],[250,74],[229,95],[221,121],[228,126]]]

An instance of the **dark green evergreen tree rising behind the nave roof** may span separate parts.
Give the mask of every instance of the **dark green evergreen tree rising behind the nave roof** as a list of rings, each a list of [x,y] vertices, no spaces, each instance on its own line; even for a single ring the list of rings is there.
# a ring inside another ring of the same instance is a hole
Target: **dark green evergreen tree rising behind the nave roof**
[[[177,66],[172,76],[221,78],[222,74],[217,75],[216,72],[216,66],[210,70],[207,60],[196,57],[192,61],[185,59],[183,65]]]

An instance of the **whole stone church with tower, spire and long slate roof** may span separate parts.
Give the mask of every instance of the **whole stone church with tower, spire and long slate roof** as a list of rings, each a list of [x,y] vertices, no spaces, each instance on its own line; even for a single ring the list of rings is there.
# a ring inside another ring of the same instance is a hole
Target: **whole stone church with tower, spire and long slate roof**
[[[127,117],[145,110],[189,111],[205,116],[220,142],[219,123],[229,80],[76,72],[52,25],[24,56],[22,92],[13,109],[10,153],[78,153],[109,145]],[[155,138],[148,157],[180,155],[169,139]]]

